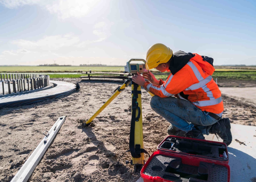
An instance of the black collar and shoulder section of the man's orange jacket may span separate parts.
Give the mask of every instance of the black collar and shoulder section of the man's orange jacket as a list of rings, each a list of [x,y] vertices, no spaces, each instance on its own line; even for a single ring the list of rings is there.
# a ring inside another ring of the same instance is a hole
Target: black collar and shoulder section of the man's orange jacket
[[[172,75],[174,75],[176,72],[180,71],[191,58],[193,58],[195,55],[192,53],[186,53],[183,51],[177,51],[173,53],[173,57],[171,58],[169,70],[171,71]]]

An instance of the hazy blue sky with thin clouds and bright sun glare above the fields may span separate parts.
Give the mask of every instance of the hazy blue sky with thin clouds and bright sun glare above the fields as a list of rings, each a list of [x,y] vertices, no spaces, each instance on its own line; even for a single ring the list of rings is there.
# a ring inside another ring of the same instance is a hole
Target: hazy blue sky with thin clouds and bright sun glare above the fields
[[[256,1],[0,0],[0,65],[126,65],[155,43],[256,65]]]

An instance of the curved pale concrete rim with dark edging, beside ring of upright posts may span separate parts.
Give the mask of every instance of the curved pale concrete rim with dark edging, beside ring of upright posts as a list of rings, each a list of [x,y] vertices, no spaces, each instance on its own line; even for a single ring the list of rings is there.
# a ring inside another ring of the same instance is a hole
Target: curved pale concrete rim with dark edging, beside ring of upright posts
[[[41,102],[45,99],[56,98],[72,93],[76,90],[76,85],[70,82],[50,81],[50,83],[56,84],[57,86],[40,92],[0,97],[0,109],[4,107],[16,107]]]

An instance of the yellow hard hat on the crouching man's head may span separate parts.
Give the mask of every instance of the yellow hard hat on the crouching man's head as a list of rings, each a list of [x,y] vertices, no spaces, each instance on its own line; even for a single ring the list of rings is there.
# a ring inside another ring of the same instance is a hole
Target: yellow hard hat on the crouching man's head
[[[161,63],[168,62],[172,57],[172,49],[164,44],[154,44],[147,52],[146,69],[150,70],[157,67]]]

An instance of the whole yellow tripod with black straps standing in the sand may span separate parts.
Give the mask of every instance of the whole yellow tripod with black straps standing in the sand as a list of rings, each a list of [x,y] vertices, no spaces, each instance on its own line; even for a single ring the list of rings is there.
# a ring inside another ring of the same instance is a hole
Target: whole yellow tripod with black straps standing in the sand
[[[144,150],[143,146],[143,130],[142,130],[142,107],[141,107],[141,86],[137,83],[134,83],[132,81],[132,77],[128,77],[122,86],[119,86],[114,91],[115,93],[101,106],[101,108],[94,113],[94,115],[87,120],[86,124],[92,122],[92,120],[95,119],[95,117],[98,116],[99,113],[101,113],[102,110],[105,109],[105,107],[108,106],[109,103],[112,102],[116,98],[116,96],[119,95],[120,92],[122,92],[126,87],[128,87],[129,84],[131,84],[132,87],[132,118],[131,118],[131,126],[130,126],[130,140],[129,140],[129,150],[126,152],[130,152],[132,155],[132,160],[126,161],[126,164],[130,163],[131,165],[134,165],[134,171],[140,171],[142,166],[144,165],[144,153],[148,152]],[[149,154],[148,154],[149,155]]]

